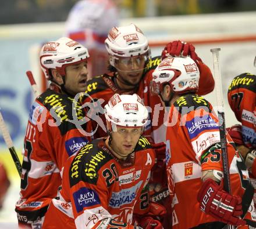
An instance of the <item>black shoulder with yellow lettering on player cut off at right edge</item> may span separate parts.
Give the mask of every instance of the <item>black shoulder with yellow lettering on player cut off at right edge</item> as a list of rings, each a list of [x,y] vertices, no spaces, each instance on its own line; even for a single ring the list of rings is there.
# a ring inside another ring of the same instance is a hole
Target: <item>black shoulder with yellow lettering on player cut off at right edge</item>
[[[243,73],[235,77],[229,85],[229,91],[239,88],[246,88],[256,92],[256,75]]]

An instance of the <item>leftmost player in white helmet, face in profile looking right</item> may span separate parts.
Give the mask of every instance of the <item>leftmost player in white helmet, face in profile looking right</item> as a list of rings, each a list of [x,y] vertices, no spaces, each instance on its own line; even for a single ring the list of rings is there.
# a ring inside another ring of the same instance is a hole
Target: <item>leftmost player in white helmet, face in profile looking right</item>
[[[90,140],[72,122],[84,117],[74,96],[86,88],[88,57],[87,49],[69,38],[47,42],[41,49],[41,68],[51,85],[35,99],[29,114],[15,208],[20,228],[41,228],[61,186],[64,162]]]

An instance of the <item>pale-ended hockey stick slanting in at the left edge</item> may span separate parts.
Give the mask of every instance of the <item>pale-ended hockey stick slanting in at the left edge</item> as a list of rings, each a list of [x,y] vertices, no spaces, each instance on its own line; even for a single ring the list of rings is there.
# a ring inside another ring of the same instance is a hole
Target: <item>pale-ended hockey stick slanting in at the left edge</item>
[[[3,135],[3,139],[5,140],[6,146],[10,151],[10,155],[12,155],[12,159],[15,163],[16,169],[19,175],[22,175],[22,164],[20,163],[19,157],[17,156],[15,147],[13,146],[12,139],[10,138],[10,133],[6,127],[5,121],[3,120],[2,114],[0,112],[0,130]]]

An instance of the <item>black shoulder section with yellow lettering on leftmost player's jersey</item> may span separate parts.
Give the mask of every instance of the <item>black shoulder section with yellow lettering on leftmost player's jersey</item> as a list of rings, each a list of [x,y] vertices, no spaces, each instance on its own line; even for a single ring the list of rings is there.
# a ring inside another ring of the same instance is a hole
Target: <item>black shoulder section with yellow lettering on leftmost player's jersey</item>
[[[73,103],[74,99],[67,96],[67,94],[46,90],[38,97],[38,101],[47,108],[52,118],[55,119],[56,125],[61,131],[61,135],[65,135],[69,130],[77,128],[76,125],[70,121],[81,120],[85,116],[83,109],[80,109],[80,102],[77,101]],[[75,109],[73,109],[73,106]],[[76,117],[73,117],[73,115],[76,115]]]

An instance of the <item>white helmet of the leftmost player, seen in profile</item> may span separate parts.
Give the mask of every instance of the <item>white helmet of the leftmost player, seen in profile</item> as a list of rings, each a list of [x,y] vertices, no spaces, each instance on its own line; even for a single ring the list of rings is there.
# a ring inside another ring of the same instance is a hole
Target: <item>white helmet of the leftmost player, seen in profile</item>
[[[87,48],[70,38],[62,37],[57,41],[47,42],[40,52],[40,64],[47,79],[51,79],[50,69],[56,69],[65,76],[65,68],[88,59]]]

